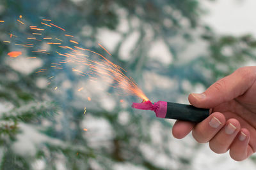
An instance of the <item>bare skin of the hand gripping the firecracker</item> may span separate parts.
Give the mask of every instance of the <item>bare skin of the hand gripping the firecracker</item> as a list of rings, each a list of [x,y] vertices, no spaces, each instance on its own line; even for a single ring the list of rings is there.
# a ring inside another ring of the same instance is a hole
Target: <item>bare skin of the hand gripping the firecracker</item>
[[[211,108],[211,115],[198,124],[177,120],[172,129],[175,138],[184,138],[192,131],[198,143],[209,143],[215,153],[229,150],[230,157],[237,161],[256,152],[255,66],[241,67],[202,94],[190,94],[188,99],[197,108]],[[218,127],[211,126],[212,118]],[[227,134],[228,128],[234,132]]]

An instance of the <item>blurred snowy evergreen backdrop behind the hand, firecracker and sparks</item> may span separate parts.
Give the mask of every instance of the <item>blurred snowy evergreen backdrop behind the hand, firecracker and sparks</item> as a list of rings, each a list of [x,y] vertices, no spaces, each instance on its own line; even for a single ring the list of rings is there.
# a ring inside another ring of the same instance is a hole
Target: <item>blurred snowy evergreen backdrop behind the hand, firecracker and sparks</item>
[[[56,71],[54,57],[10,58],[15,47],[3,42],[19,15],[31,24],[51,18],[86,48],[104,53],[101,43],[153,102],[188,104],[189,93],[255,65],[255,6],[253,0],[1,0],[0,168],[255,169],[255,155],[235,162],[190,134],[174,139],[174,120],[132,110],[138,97],[70,69]],[[35,73],[42,68],[48,72]]]

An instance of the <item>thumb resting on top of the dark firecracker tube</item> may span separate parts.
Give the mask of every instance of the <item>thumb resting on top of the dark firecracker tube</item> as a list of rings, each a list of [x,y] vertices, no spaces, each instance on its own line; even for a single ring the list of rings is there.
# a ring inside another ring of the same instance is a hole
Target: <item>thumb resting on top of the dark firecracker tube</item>
[[[241,96],[256,80],[256,67],[241,67],[221,78],[202,94],[190,94],[189,103],[197,108],[214,108],[221,103]]]

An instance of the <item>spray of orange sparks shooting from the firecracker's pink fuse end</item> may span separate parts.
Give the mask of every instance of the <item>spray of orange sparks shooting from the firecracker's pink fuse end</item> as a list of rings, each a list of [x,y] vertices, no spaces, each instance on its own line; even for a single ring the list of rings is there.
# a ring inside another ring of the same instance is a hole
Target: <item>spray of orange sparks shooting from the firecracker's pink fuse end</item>
[[[99,79],[108,83],[110,87],[114,89],[121,89],[122,94],[138,96],[144,101],[148,101],[147,96],[138,87],[136,82],[128,77],[127,71],[122,67],[111,62],[104,55],[94,52],[88,48],[84,48],[79,45],[79,41],[74,40],[74,36],[69,34],[63,27],[54,24],[52,20],[42,19],[39,25],[28,25],[28,21],[24,20],[24,17],[16,18],[15,24],[24,25],[27,27],[26,32],[21,36],[9,36],[8,39],[3,39],[3,42],[9,45],[15,45],[15,51],[8,53],[10,57],[19,57],[22,53],[21,48],[30,50],[30,53],[35,56],[28,56],[27,59],[35,59],[36,57],[54,57],[52,62],[53,69],[63,69],[66,64],[72,64],[72,71],[81,76],[88,76],[91,81],[97,82]],[[4,26],[4,22],[0,25]],[[50,31],[58,31],[60,36],[56,34],[49,36]],[[11,35],[12,32],[10,33]],[[42,48],[43,45],[49,46],[51,50]],[[111,53],[100,45],[108,55]],[[58,62],[56,60],[58,59]],[[40,69],[36,73],[44,73],[45,69]],[[55,87],[54,90],[57,90]],[[78,91],[81,91],[79,89]],[[88,97],[88,101],[91,98]]]

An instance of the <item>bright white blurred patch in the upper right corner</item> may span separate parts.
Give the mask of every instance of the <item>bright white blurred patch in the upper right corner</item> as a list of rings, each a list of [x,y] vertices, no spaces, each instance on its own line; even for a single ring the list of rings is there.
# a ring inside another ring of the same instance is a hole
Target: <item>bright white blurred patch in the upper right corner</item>
[[[256,37],[255,0],[204,1],[209,10],[203,20],[221,34],[252,33]]]

